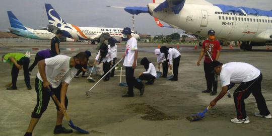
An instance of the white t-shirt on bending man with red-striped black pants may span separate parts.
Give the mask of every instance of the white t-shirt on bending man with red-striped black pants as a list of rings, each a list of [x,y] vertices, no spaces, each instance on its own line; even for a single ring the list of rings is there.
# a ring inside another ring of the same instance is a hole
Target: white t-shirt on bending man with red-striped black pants
[[[230,62],[222,66],[220,79],[222,87],[230,83],[249,82],[259,77],[260,71],[251,64]]]

